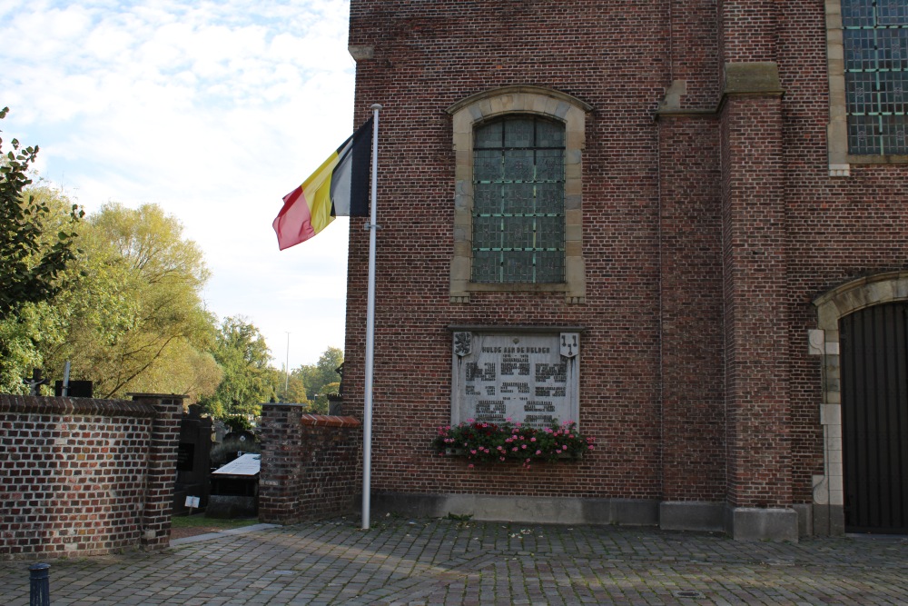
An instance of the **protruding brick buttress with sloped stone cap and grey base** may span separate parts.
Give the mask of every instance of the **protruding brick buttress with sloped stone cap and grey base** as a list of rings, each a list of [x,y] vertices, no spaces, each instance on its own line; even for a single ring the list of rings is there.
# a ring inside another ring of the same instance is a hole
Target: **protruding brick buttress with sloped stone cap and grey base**
[[[721,120],[725,525],[735,539],[796,541],[782,100],[775,64],[725,65]]]

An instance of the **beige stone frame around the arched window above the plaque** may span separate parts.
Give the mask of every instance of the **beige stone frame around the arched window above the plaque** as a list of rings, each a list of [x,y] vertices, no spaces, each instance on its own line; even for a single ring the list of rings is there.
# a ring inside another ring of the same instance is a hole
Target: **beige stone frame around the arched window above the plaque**
[[[538,86],[507,86],[474,94],[451,105],[455,164],[454,257],[451,303],[469,303],[475,292],[565,293],[568,303],[584,303],[583,163],[586,117],[592,107],[576,97]],[[478,128],[508,116],[538,117],[564,128],[563,282],[479,282],[473,272],[474,144]]]

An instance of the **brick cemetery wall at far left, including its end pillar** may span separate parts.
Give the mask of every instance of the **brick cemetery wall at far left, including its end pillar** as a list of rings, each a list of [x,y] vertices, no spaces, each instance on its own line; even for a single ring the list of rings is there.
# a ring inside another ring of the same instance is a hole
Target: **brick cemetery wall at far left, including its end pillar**
[[[167,547],[180,412],[0,395],[0,558]]]

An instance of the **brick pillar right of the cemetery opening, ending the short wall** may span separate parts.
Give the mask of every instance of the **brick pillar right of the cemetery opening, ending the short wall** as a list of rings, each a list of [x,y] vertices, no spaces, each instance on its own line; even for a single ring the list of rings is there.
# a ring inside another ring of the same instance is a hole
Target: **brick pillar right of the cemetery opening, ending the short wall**
[[[259,520],[298,522],[302,482],[302,404],[262,404]]]

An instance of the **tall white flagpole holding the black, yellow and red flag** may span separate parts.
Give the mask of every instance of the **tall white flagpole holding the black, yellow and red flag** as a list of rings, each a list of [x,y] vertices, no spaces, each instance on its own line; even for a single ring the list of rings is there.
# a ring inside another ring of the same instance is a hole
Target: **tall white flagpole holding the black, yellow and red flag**
[[[369,224],[369,290],[366,303],[366,391],[362,412],[362,530],[369,530],[370,498],[372,490],[372,371],[375,359],[375,198],[379,182],[379,110],[372,105],[372,194]]]

